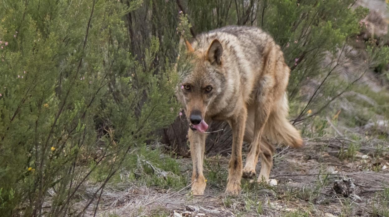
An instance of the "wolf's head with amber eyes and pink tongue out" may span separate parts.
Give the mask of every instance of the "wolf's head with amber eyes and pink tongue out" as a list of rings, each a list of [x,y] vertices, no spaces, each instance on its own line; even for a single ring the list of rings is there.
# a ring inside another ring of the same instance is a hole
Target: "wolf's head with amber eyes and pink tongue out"
[[[192,53],[191,68],[182,76],[178,93],[186,107],[186,115],[192,130],[205,132],[208,125],[205,115],[212,113],[213,106],[223,93],[225,83],[223,68],[223,46],[219,40],[213,40],[207,49],[194,50],[186,41],[187,52]]]

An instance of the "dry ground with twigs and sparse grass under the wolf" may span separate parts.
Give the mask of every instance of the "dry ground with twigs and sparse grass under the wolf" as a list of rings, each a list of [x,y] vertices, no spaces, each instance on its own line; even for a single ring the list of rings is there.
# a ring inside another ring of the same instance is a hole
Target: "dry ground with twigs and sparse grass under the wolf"
[[[190,183],[181,189],[117,184],[104,191],[97,216],[388,216],[389,144],[366,139],[355,151],[356,142],[316,138],[302,149],[279,147],[271,172],[277,185],[242,179],[235,197],[224,193],[229,157],[208,157],[204,196],[189,195]],[[191,160],[179,161],[190,180]],[[354,185],[346,183],[343,196],[334,190],[336,180]]]

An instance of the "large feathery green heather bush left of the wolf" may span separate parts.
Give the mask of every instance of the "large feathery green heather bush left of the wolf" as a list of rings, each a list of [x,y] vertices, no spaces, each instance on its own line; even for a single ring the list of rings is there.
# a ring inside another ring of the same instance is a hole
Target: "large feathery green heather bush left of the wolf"
[[[167,60],[155,73],[158,38],[144,46],[142,61],[131,54],[122,18],[141,3],[2,3],[3,216],[82,215],[130,167],[130,150],[177,115],[177,73]],[[90,179],[96,171],[99,179]],[[86,182],[92,194],[79,204]]]

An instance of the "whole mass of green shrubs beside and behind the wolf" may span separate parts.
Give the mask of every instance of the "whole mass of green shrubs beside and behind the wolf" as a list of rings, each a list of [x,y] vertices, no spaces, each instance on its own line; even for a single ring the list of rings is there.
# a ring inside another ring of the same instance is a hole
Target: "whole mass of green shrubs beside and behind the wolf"
[[[353,2],[2,1],[0,213],[79,216],[123,168],[132,171],[130,179],[141,180],[134,175],[134,158],[144,156],[129,153],[137,147],[147,153],[144,144],[177,116],[174,62],[181,34],[228,24],[263,28],[282,46],[292,69],[292,116],[303,120],[310,103],[317,106],[312,116],[323,112],[327,102],[314,94],[312,102],[300,103],[299,90],[307,77],[324,78],[321,97],[350,88],[327,85],[334,80],[323,74],[332,71],[321,61],[328,52],[336,60],[360,32],[367,10],[353,10]],[[96,187],[86,205],[79,205],[86,182]]]

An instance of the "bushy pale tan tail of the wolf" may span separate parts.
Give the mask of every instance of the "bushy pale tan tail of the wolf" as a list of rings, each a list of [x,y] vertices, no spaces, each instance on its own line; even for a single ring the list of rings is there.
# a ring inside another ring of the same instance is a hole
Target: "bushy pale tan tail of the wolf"
[[[287,97],[284,95],[275,103],[266,123],[264,135],[272,142],[282,143],[293,148],[304,146],[300,132],[286,119],[289,112]]]

